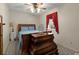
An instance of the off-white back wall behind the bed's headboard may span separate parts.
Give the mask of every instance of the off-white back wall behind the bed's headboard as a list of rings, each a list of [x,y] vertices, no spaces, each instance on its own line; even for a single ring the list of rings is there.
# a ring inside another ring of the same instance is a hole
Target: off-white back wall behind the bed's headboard
[[[25,12],[10,10],[10,21],[13,22],[15,28],[15,36],[18,24],[36,24],[36,28],[40,24],[40,17]]]

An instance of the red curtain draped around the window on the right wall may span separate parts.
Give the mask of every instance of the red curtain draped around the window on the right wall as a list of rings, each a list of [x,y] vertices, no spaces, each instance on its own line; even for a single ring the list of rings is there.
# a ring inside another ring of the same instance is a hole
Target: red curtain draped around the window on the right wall
[[[49,19],[51,16],[52,16],[52,21],[53,21],[54,26],[55,26],[55,30],[57,33],[59,33],[57,12],[51,13],[51,14],[46,16],[46,28],[48,28]]]

